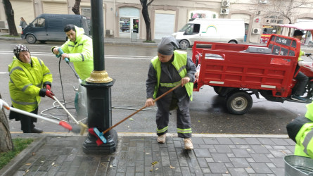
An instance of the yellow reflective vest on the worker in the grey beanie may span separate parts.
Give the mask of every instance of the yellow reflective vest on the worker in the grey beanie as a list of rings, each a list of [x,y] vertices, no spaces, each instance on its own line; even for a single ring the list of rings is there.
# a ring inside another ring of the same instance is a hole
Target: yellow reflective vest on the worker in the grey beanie
[[[153,99],[155,99],[158,93],[159,86],[160,86],[161,61],[159,60],[158,56],[155,56],[155,58],[151,60],[151,63],[157,73],[157,79],[158,79],[158,83],[155,85],[154,94],[153,94]],[[172,61],[172,65],[174,65],[174,67],[176,68],[181,78],[185,77],[187,74],[186,64],[187,64],[187,53],[184,51],[175,50],[174,60]],[[173,82],[171,87],[175,87],[176,85],[177,84]],[[193,82],[188,82],[187,84],[184,85],[184,87],[186,88],[186,92],[189,95],[189,99],[192,101]]]

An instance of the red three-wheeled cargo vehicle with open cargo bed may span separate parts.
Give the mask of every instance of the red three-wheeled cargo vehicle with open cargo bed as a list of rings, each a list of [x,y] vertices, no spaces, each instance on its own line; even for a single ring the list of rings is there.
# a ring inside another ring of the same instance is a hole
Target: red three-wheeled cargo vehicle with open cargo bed
[[[290,95],[297,86],[294,79],[300,53],[300,41],[272,34],[267,46],[195,42],[193,62],[200,68],[193,91],[210,85],[219,96],[226,97],[229,113],[247,113],[253,105],[251,95],[268,101],[293,101]],[[312,63],[301,67],[309,77],[307,102],[312,102]]]

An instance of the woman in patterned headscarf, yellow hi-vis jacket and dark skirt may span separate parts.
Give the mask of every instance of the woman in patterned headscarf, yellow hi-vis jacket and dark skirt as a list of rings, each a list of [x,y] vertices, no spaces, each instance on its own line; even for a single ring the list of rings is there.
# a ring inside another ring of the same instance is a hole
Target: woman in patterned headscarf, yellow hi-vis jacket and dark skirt
[[[41,59],[30,56],[30,50],[23,44],[15,46],[12,63],[8,65],[12,107],[37,114],[40,96],[49,96],[51,92],[52,74]],[[35,127],[37,118],[10,111],[10,119],[20,120],[21,130],[24,133],[41,133],[43,130]]]

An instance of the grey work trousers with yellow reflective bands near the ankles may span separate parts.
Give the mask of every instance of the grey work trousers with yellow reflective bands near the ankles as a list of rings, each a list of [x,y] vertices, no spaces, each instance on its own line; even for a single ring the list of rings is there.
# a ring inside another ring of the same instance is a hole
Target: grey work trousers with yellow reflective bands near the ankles
[[[157,134],[158,136],[167,133],[167,127],[170,118],[171,103],[177,103],[177,134],[181,138],[191,137],[191,118],[189,115],[189,96],[185,96],[181,101],[172,101],[172,94],[162,97],[156,101],[158,111],[156,114]],[[186,130],[186,131],[185,131]]]

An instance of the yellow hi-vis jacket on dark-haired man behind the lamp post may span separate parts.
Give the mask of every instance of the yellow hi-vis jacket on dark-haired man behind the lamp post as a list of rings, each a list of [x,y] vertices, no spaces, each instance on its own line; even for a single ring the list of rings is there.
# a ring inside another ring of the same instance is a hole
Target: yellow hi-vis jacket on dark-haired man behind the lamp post
[[[83,28],[75,26],[75,30],[75,43],[68,39],[60,48],[70,56],[70,62],[73,63],[80,79],[85,80],[90,77],[90,73],[94,70],[92,39],[84,35]]]

